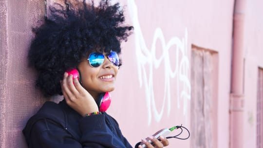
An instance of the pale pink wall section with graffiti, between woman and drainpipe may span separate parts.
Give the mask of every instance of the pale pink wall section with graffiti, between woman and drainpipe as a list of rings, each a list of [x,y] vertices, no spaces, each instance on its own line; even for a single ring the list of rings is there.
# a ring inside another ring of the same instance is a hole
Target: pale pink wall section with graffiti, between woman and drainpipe
[[[131,143],[158,129],[190,127],[191,45],[218,52],[218,148],[229,145],[233,0],[122,0],[134,34],[123,44],[123,66],[110,111]],[[164,57],[169,57],[166,59]],[[122,105],[122,109],[117,109]],[[132,128],[134,127],[134,128]],[[191,130],[191,129],[190,129]],[[136,133],[136,134],[134,134]],[[170,140],[189,148],[189,140]]]

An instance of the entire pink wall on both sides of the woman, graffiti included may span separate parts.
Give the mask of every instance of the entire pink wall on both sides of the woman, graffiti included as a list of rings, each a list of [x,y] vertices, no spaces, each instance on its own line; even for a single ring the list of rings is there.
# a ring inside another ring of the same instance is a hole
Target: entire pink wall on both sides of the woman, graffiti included
[[[32,37],[31,26],[44,14],[44,7],[41,0],[1,2],[0,19],[5,21],[1,24],[6,25],[0,29],[6,36],[0,38],[4,53],[0,65],[0,148],[26,148],[21,129],[43,101],[34,91],[34,72],[27,68],[25,53]],[[126,5],[127,21],[134,26],[134,34],[122,44],[123,66],[108,112],[117,119],[123,134],[135,145],[159,129],[183,124],[191,131],[191,48],[195,45],[217,53],[215,148],[229,148],[234,0],[120,2]],[[256,148],[263,1],[247,0],[245,4],[243,145]],[[190,148],[190,140],[171,139],[169,148]]]

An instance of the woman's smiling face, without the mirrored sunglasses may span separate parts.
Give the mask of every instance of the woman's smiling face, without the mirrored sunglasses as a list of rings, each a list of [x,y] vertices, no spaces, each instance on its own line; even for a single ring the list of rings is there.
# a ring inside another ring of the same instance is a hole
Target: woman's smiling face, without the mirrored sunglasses
[[[105,53],[104,53],[105,55]],[[87,58],[78,65],[81,74],[81,85],[96,99],[101,92],[112,92],[118,67],[105,55],[104,62],[99,67],[92,67]]]

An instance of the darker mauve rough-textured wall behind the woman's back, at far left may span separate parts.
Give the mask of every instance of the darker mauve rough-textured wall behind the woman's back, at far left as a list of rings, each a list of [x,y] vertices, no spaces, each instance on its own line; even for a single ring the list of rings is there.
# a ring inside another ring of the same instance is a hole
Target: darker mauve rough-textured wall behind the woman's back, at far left
[[[35,91],[26,58],[43,10],[42,0],[0,1],[0,148],[26,148],[22,129],[47,100]]]

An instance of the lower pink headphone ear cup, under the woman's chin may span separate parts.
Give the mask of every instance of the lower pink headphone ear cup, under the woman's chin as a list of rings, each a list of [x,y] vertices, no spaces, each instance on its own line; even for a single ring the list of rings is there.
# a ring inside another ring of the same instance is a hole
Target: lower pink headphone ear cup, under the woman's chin
[[[99,95],[99,98],[96,103],[99,108],[99,111],[105,112],[110,107],[111,102],[112,102],[111,94],[109,92],[104,92]]]

